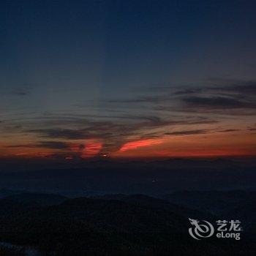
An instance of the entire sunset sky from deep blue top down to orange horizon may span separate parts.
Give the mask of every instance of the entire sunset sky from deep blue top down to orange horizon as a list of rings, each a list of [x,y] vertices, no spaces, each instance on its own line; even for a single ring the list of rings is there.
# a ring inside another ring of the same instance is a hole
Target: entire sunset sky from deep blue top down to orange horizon
[[[0,3],[0,157],[256,155],[256,2]]]

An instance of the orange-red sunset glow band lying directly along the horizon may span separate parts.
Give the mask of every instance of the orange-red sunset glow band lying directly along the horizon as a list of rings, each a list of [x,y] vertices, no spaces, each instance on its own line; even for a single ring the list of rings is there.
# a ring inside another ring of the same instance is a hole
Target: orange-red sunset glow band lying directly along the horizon
[[[209,133],[203,135],[163,136],[124,143],[118,150],[103,143],[104,140],[67,140],[67,147],[46,148],[37,141],[16,140],[0,145],[0,158],[63,158],[110,157],[124,159],[150,159],[171,157],[240,157],[256,156],[256,137],[246,134]],[[107,141],[108,143],[108,141]],[[107,144],[106,143],[106,144]],[[23,146],[24,145],[24,146]],[[34,146],[35,145],[35,146]],[[40,145],[38,143],[38,145]]]

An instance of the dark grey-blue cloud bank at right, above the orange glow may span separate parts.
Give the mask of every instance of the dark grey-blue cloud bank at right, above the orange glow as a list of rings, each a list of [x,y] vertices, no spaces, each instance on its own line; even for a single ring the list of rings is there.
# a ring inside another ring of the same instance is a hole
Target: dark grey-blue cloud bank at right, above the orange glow
[[[159,89],[159,90],[157,90]],[[256,81],[209,79],[204,86],[160,86],[135,99],[113,99],[119,105],[140,104],[154,110],[178,113],[208,113],[230,115],[256,114]]]

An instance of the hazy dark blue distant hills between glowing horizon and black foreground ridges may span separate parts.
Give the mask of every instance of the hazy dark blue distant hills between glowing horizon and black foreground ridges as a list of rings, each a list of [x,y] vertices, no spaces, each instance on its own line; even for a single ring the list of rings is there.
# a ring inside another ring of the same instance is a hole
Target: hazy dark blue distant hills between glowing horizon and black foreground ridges
[[[24,163],[25,164],[25,163]],[[105,194],[163,195],[180,190],[256,190],[255,159],[84,161],[72,167],[0,163],[0,189],[68,197]],[[0,193],[1,197],[1,193]]]

